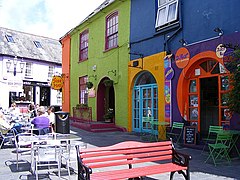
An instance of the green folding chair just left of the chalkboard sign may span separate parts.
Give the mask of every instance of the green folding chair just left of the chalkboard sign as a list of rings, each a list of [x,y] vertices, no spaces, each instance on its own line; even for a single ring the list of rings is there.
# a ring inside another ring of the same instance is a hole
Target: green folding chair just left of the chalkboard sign
[[[167,132],[167,137],[171,138],[173,142],[179,143],[183,134],[184,123],[173,122],[170,132]]]

